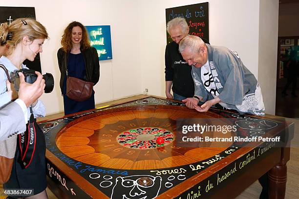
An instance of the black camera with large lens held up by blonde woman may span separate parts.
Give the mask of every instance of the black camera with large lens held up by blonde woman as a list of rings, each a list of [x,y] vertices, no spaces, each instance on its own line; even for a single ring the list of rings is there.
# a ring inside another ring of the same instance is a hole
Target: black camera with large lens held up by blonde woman
[[[21,72],[24,77],[25,81],[27,83],[34,83],[37,79],[37,74],[35,74],[35,70],[30,70],[30,69],[20,69],[16,72],[16,79],[15,79],[15,89],[16,91],[19,91],[20,87],[20,76],[19,72]],[[44,87],[44,92],[45,93],[51,93],[54,88],[54,78],[51,73],[46,73],[43,75],[43,79],[45,81],[45,87]]]

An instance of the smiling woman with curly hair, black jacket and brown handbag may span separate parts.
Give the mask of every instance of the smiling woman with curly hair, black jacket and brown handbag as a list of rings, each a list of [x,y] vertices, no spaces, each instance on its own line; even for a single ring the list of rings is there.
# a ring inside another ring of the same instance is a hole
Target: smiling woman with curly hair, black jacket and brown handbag
[[[92,84],[95,85],[99,81],[100,64],[97,50],[90,46],[85,26],[77,21],[68,24],[64,30],[61,44],[62,48],[58,50],[57,58],[61,72],[60,88],[64,97],[64,114],[94,109]],[[91,84],[91,86],[82,91],[86,84]],[[71,86],[72,88],[77,86],[81,88],[72,89]],[[77,92],[72,92],[76,89]],[[81,98],[85,91],[89,95],[86,98]]]

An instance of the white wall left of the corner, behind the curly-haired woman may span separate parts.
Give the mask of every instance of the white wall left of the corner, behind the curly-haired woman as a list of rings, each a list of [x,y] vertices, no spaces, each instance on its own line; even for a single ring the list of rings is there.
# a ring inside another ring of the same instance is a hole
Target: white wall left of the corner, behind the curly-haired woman
[[[37,0],[3,1],[1,6],[35,7],[36,19],[46,28],[50,40],[43,45],[41,64],[43,73],[52,73],[55,87],[42,100],[47,115],[62,112],[63,98],[59,87],[60,71],[57,50],[64,28],[73,20],[84,25],[111,25],[113,60],[100,61],[100,81],[94,87],[95,102],[119,99],[141,93],[139,66],[139,37],[136,28],[136,0]]]

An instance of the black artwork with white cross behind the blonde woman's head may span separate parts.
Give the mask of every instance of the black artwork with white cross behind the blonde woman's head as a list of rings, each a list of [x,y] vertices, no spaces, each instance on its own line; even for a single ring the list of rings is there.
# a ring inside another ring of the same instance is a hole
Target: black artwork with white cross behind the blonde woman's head
[[[2,7],[0,6],[0,23],[7,22],[10,24],[18,18],[33,18],[35,19],[34,7]],[[42,72],[40,54],[37,54],[34,61],[25,60],[23,62],[28,68]]]

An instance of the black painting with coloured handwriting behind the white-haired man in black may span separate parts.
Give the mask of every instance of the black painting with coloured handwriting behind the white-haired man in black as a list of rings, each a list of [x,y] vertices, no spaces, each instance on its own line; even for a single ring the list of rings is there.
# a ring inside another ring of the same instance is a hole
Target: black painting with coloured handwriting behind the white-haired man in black
[[[166,24],[176,17],[185,18],[190,28],[190,35],[209,41],[209,2],[166,9]],[[171,37],[167,33],[167,43],[171,41]]]

